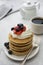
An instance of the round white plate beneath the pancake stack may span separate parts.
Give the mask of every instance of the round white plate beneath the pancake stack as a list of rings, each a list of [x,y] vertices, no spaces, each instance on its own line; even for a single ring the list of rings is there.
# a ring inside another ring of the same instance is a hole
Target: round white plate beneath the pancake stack
[[[28,57],[27,60],[33,58],[38,53],[38,51],[39,51],[39,46],[32,51],[32,53],[30,54],[30,56]],[[10,54],[8,54],[8,50],[5,47],[4,47],[4,52],[10,59],[16,60],[16,61],[22,61],[25,57],[25,56],[10,55]]]

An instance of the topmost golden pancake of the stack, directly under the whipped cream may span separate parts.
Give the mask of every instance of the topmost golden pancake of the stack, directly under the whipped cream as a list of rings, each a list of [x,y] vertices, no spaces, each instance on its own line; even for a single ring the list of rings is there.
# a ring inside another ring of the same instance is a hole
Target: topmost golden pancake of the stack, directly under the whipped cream
[[[30,37],[25,38],[25,39],[18,39],[18,38],[13,38],[11,34],[9,34],[9,41],[12,41],[14,43],[18,43],[18,44],[25,44],[29,41],[31,41],[33,39],[33,34],[30,35]]]

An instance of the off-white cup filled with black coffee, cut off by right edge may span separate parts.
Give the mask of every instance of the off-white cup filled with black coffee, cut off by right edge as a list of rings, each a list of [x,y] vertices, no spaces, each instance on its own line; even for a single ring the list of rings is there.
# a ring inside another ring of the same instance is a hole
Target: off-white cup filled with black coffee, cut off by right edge
[[[41,18],[41,17],[37,17],[37,18],[33,18],[32,20],[31,20],[31,30],[32,30],[32,32],[33,33],[35,33],[35,34],[43,34],[43,22],[42,22],[42,24],[37,24],[38,23],[38,21],[37,21],[37,23],[34,23],[33,22],[33,20],[42,20],[43,21],[43,18]],[[40,22],[41,23],[41,22]]]

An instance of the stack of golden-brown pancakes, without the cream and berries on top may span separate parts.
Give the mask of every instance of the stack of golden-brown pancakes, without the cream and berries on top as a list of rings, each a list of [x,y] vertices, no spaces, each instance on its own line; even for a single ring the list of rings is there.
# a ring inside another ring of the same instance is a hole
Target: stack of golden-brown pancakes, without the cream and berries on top
[[[9,34],[9,48],[15,55],[26,55],[32,49],[33,34],[25,39],[13,38]]]

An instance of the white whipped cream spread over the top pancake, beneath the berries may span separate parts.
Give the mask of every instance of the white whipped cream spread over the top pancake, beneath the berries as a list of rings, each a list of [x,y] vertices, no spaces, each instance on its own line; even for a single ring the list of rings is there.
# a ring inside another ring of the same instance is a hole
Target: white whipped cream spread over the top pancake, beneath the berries
[[[10,34],[12,35],[13,38],[25,39],[25,38],[30,37],[30,35],[32,35],[32,32],[30,29],[27,28],[26,31],[22,32],[21,35],[16,35],[14,34],[13,31],[11,31]]]

